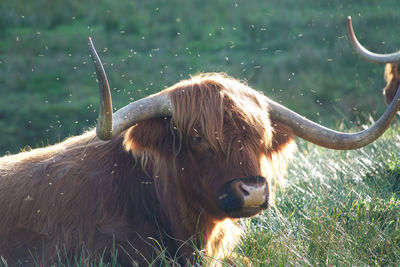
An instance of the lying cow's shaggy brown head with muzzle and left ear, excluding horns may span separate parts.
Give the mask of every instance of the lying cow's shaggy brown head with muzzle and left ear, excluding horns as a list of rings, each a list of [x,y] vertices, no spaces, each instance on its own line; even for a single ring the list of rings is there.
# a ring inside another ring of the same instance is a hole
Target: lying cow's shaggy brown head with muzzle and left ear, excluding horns
[[[133,153],[162,157],[188,203],[216,217],[253,216],[269,205],[265,161],[272,127],[263,96],[223,74],[203,74],[166,89],[173,115],[138,122],[125,134]],[[169,181],[171,182],[171,181]]]

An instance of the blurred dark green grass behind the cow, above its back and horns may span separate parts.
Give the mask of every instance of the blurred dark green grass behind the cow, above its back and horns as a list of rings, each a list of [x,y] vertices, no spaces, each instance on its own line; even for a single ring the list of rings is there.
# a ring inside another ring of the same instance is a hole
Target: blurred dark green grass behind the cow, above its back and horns
[[[104,0],[0,2],[0,155],[89,129],[97,84],[92,36],[114,107],[190,74],[223,71],[336,129],[384,110],[383,66],[359,59],[347,37],[397,51],[398,0]]]

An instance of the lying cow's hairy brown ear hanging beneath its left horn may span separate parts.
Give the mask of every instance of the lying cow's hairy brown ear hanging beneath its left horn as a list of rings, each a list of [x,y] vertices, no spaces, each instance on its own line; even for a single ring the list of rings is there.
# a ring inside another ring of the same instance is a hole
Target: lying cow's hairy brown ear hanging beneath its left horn
[[[161,152],[171,139],[168,125],[168,118],[153,118],[138,122],[125,133],[125,149],[134,154],[141,154],[144,151]]]

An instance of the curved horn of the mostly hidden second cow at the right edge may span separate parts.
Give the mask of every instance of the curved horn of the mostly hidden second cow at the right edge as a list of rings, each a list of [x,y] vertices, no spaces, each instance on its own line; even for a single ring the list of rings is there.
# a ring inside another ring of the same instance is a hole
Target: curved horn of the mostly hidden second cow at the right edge
[[[354,34],[353,25],[351,24],[351,17],[349,16],[347,20],[349,27],[350,43],[360,57],[372,63],[391,63],[400,61],[400,51],[391,54],[377,54],[363,47],[357,40],[356,35]]]

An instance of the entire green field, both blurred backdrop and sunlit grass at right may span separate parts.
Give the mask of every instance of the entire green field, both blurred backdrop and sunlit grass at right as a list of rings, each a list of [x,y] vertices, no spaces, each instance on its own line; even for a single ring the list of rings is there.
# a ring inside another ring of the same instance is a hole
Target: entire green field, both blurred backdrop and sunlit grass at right
[[[385,53],[400,48],[399,10],[398,0],[3,0],[0,155],[93,127],[88,36],[115,108],[217,71],[323,125],[358,130],[384,111],[385,82],[383,66],[352,51],[347,16],[367,48]],[[238,254],[256,266],[400,265],[399,134],[396,124],[350,152],[300,142],[276,207],[241,221]]]

